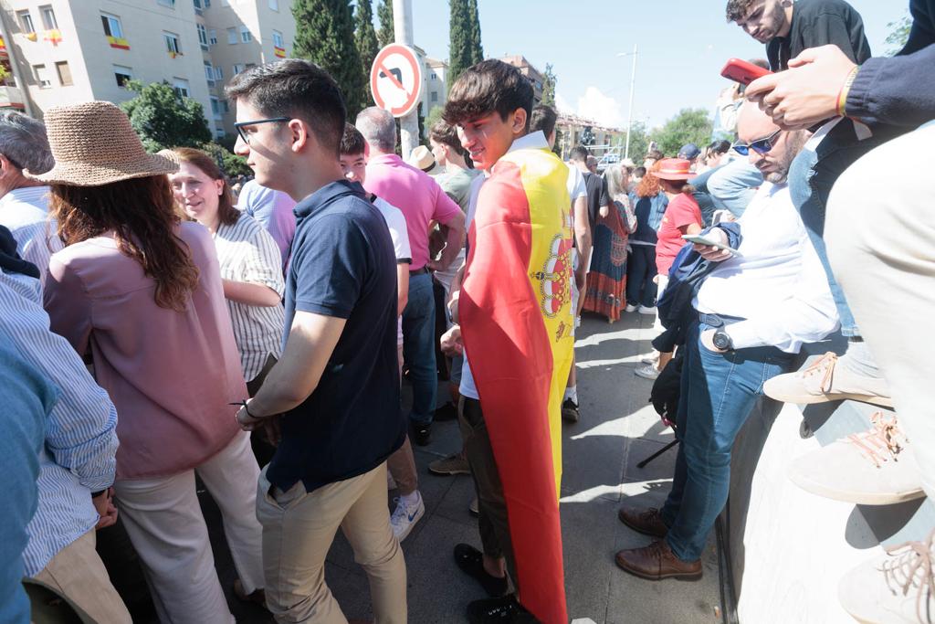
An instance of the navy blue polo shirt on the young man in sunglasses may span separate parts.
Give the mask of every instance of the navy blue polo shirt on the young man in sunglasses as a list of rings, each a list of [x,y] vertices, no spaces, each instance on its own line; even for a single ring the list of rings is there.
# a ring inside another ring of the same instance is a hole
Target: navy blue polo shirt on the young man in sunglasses
[[[360,184],[334,181],[295,206],[284,340],[295,311],[347,319],[322,379],[282,418],[266,477],[311,490],[364,474],[402,445],[396,254]]]

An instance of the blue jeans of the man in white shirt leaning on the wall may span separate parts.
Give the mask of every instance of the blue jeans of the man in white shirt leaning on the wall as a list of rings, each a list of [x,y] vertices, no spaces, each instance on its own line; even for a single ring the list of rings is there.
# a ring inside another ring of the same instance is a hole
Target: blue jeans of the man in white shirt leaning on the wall
[[[789,370],[793,358],[775,347],[719,354],[700,343],[712,326],[693,323],[683,347],[682,390],[676,416],[679,455],[662,519],[676,557],[696,561],[727,501],[734,439],[763,393],[763,384]]]

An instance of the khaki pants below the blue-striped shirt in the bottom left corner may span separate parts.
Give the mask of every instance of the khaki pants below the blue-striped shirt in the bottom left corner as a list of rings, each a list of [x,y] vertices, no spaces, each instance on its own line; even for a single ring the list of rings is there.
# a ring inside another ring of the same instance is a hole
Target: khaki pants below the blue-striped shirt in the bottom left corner
[[[130,612],[111,585],[94,544],[92,529],[60,550],[36,574],[36,580],[63,594],[101,624],[130,624]]]

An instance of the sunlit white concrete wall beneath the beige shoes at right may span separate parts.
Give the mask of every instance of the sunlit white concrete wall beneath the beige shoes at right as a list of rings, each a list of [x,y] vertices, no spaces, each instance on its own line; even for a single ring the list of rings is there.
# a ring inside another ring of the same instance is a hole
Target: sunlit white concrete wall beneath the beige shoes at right
[[[922,540],[935,526],[931,501],[853,505],[787,478],[795,457],[869,428],[876,410],[844,401],[803,414],[764,400],[751,415],[734,446],[726,511],[741,624],[853,624],[838,601],[841,576],[881,555],[881,544]]]

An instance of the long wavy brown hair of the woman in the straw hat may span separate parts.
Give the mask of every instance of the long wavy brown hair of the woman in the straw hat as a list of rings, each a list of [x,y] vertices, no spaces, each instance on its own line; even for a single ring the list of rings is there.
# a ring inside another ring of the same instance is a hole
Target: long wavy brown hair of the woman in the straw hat
[[[101,186],[52,184],[50,195],[58,234],[66,245],[113,230],[117,248],[156,283],[156,305],[185,311],[198,285],[198,268],[173,231],[180,218],[165,176]]]

